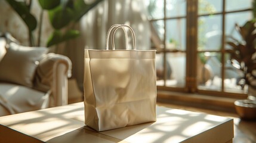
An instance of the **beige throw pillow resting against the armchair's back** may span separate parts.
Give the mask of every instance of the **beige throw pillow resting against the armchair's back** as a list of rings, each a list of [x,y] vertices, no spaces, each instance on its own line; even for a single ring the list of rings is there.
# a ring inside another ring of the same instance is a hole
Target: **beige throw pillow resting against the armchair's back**
[[[0,81],[33,86],[33,77],[39,60],[48,52],[45,47],[20,46],[10,43],[0,62]]]

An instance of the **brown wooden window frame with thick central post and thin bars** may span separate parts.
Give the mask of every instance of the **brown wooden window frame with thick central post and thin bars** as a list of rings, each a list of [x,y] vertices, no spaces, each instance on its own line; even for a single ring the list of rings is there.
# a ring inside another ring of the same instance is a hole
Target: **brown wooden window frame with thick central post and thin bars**
[[[208,15],[221,15],[222,21],[221,21],[221,28],[223,31],[223,35],[221,38],[221,49],[219,51],[210,51],[210,52],[218,52],[221,54],[221,63],[223,66],[221,66],[221,75],[224,77],[224,54],[226,54],[226,50],[224,49],[225,45],[225,19],[226,14],[229,13],[239,13],[243,11],[249,11],[251,9],[245,9],[245,10],[237,10],[237,11],[226,11],[226,0],[223,0],[223,7],[221,12],[218,13],[212,13],[212,14],[198,14],[198,0],[187,0],[187,11],[185,16],[181,17],[166,17],[166,0],[164,0],[164,18],[158,18],[150,20],[150,23],[153,21],[158,20],[164,20],[164,29],[166,33],[166,21],[171,19],[177,19],[177,18],[186,18],[186,51],[177,51],[177,50],[169,50],[165,48],[165,42],[161,42],[161,40],[158,38],[157,33],[152,31],[153,35],[155,35],[155,38],[152,36],[152,41],[155,43],[155,45],[159,45],[162,43],[164,45],[164,48],[161,50],[158,50],[158,53],[164,54],[164,86],[158,86],[158,90],[161,91],[174,91],[174,92],[187,92],[192,94],[202,94],[202,95],[214,95],[217,97],[228,97],[228,98],[241,98],[245,99],[247,97],[246,94],[241,93],[233,93],[233,92],[226,92],[224,89],[224,79],[221,80],[221,91],[207,91],[198,89],[197,85],[197,63],[196,58],[198,53],[200,52],[208,52],[208,51],[198,51],[198,18],[202,16],[208,16]],[[153,27],[152,27],[153,28]],[[164,41],[166,40],[166,34],[164,34]],[[156,46],[157,49],[160,49],[159,46]],[[173,53],[173,52],[186,52],[186,85],[184,88],[174,88],[166,86],[166,54],[167,53]]]

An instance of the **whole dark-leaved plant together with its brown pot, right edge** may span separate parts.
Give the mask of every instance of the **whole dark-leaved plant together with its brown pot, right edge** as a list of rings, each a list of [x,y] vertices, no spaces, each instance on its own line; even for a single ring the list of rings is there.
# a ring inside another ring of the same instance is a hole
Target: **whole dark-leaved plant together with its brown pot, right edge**
[[[244,89],[248,86],[248,100],[235,101],[235,108],[242,119],[256,119],[256,26],[255,19],[246,21],[243,26],[235,25],[242,41],[229,37],[231,49],[230,61],[242,71],[243,76],[237,81]]]

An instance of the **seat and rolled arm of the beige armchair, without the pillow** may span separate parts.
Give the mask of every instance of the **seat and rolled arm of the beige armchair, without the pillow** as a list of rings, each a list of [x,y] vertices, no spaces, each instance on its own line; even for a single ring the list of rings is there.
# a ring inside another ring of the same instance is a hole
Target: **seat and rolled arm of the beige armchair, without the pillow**
[[[48,53],[36,68],[33,88],[0,82],[0,116],[66,105],[71,68],[68,57]]]

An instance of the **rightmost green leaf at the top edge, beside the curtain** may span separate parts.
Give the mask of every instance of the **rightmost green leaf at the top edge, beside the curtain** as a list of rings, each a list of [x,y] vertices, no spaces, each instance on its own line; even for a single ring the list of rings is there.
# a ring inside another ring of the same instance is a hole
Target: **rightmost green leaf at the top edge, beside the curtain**
[[[98,3],[100,3],[103,0],[96,0],[95,2],[92,2],[91,4],[85,4],[84,0],[77,0],[74,2],[74,21],[80,20],[88,11],[90,11],[92,8],[94,8]]]

